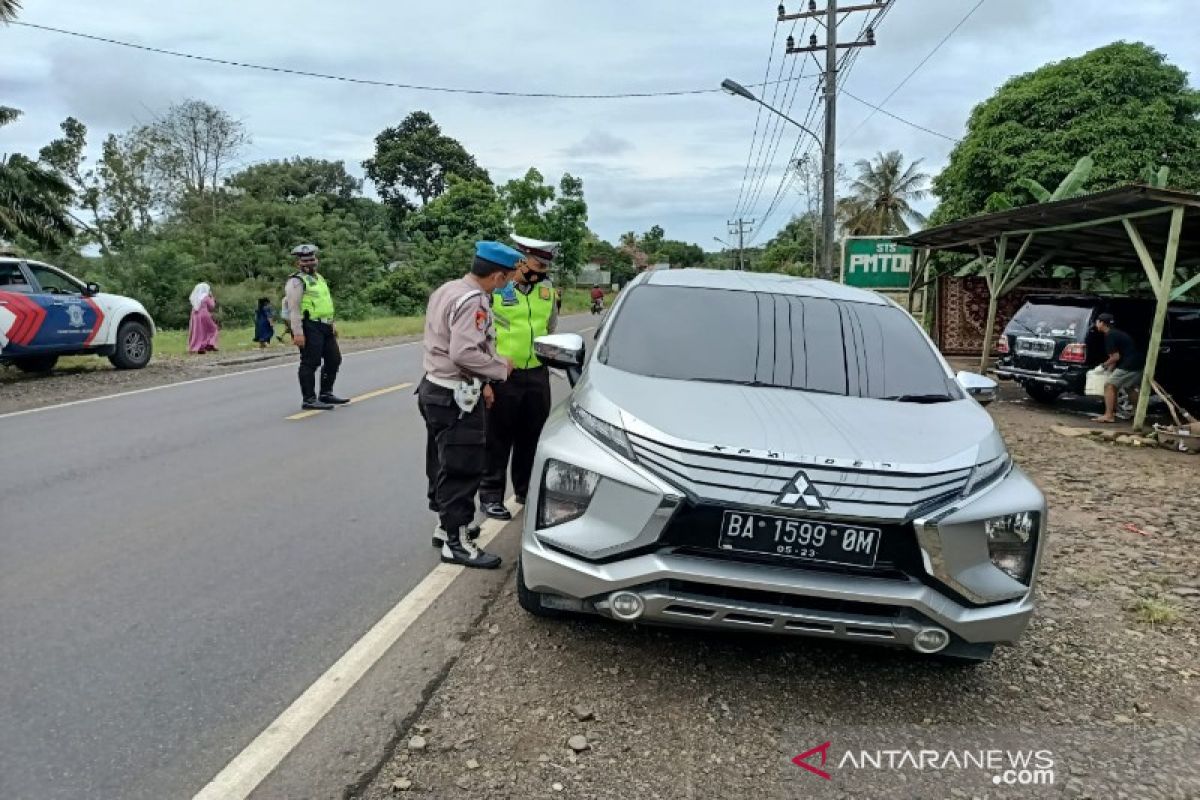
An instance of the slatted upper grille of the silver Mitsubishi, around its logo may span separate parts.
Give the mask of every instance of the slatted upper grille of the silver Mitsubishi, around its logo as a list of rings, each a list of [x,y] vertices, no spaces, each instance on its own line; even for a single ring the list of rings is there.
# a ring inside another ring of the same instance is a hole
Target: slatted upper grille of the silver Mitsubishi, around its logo
[[[970,467],[906,473],[800,463],[748,456],[731,449],[667,444],[634,432],[629,432],[629,440],[640,463],[697,503],[773,507],[803,470],[826,501],[824,513],[839,519],[912,519],[958,497],[971,475]]]

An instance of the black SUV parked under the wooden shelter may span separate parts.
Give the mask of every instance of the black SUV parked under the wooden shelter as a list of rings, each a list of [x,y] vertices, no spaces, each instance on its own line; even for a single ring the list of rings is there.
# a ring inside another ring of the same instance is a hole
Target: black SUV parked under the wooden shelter
[[[1051,403],[1084,393],[1087,371],[1103,362],[1096,317],[1109,312],[1145,353],[1154,301],[1097,295],[1031,295],[997,342],[996,373],[1019,381],[1030,397]],[[1178,402],[1200,402],[1200,303],[1171,303],[1159,349],[1158,383]]]

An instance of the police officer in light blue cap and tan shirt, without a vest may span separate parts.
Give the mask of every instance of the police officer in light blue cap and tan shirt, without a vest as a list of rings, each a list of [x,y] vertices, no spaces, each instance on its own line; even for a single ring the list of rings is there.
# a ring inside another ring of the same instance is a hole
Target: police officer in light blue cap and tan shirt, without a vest
[[[478,242],[470,272],[438,287],[425,312],[425,378],[416,395],[427,434],[430,507],[439,522],[434,540],[450,564],[500,565],[499,557],[475,547],[478,529],[469,527],[484,475],[484,409],[493,397],[485,381],[504,381],[512,372],[512,361],[496,353],[491,297],[521,258],[508,245]]]

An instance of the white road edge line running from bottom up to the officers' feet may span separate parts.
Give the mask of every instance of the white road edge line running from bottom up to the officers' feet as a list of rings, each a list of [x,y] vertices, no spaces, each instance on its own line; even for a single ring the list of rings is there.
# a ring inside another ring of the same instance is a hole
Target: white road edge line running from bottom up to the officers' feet
[[[505,505],[516,516],[517,506],[512,498],[509,498]],[[499,519],[485,519],[478,540],[479,546],[486,546],[508,524]],[[244,800],[250,796],[466,569],[451,564],[439,564],[433,567],[432,572],[326,669],[324,675],[306,688],[304,694],[275,717],[263,733],[200,789],[193,800]]]

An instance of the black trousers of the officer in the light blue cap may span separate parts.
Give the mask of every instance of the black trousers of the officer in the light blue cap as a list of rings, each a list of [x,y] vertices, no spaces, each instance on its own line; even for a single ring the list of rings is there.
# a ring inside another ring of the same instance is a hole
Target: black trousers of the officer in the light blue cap
[[[425,419],[430,509],[438,513],[443,530],[467,527],[475,518],[475,494],[484,476],[484,402],[480,399],[470,414],[462,415],[454,391],[427,380],[421,381],[416,398]]]

